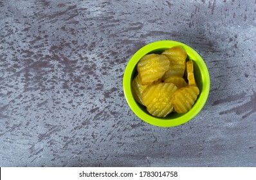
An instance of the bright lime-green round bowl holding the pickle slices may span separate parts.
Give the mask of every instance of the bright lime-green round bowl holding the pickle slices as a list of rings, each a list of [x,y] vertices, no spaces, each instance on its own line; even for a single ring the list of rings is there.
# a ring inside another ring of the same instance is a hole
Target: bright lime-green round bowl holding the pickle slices
[[[169,49],[174,46],[182,46],[187,52],[188,59],[193,60],[194,76],[196,78],[197,86],[199,87],[200,93],[192,109],[190,109],[190,111],[188,111],[187,113],[178,114],[173,112],[165,118],[157,118],[149,114],[145,106],[140,105],[138,102],[136,102],[133,97],[131,82],[136,75],[138,61],[144,55],[147,55],[149,53],[161,53],[165,49]],[[174,127],[186,123],[189,120],[192,120],[192,118],[194,118],[201,111],[201,109],[203,109],[203,106],[205,105],[208,98],[209,91],[210,76],[203,59],[194,49],[190,48],[186,44],[173,40],[160,40],[143,46],[129,60],[123,74],[123,92],[127,104],[129,105],[133,113],[136,114],[136,116],[138,116],[143,121],[159,127]]]

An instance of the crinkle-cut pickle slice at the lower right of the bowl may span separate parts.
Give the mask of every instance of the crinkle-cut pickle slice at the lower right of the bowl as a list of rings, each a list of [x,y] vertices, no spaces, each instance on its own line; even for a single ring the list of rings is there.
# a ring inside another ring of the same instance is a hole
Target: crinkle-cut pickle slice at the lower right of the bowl
[[[199,89],[196,86],[181,87],[172,96],[172,104],[177,113],[187,113],[199,95]]]

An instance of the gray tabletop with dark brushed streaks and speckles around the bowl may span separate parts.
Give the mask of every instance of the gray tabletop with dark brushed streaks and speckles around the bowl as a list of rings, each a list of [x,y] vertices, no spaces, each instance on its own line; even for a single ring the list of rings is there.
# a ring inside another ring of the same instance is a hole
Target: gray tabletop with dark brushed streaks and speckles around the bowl
[[[0,1],[1,167],[256,167],[256,1]],[[202,111],[129,109],[129,58],[177,40],[205,60]]]

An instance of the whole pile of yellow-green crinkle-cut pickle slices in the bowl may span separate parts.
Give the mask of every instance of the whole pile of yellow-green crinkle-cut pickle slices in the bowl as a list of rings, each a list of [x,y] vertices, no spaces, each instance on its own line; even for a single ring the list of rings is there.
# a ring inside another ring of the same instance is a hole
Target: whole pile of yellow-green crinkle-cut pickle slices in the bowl
[[[199,89],[193,60],[187,60],[181,46],[145,55],[137,71],[132,82],[133,96],[152,116],[165,118],[173,111],[187,113],[196,102]]]

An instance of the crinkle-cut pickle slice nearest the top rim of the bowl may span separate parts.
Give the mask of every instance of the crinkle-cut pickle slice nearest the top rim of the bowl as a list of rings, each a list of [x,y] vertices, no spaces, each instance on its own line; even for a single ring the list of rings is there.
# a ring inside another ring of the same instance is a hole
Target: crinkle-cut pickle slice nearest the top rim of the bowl
[[[165,80],[169,76],[183,77],[186,68],[186,51],[181,46],[175,46],[163,51],[161,54],[167,56],[170,61],[169,69],[165,72],[162,79]]]

